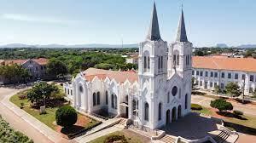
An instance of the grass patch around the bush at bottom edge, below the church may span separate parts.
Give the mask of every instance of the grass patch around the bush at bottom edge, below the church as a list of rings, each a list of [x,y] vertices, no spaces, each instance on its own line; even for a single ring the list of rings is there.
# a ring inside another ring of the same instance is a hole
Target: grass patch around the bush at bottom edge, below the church
[[[125,135],[122,131],[117,131],[112,134],[107,134],[102,137],[97,138],[96,140],[91,140],[90,143],[104,143],[104,140],[107,139],[108,136],[111,135]],[[143,141],[140,139],[140,136],[136,135],[125,135],[125,139],[128,141],[128,143],[143,143]]]

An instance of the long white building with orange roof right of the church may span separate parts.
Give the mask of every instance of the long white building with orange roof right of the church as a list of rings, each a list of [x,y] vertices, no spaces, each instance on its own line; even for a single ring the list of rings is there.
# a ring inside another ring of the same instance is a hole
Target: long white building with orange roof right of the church
[[[256,60],[253,58],[228,58],[225,56],[194,56],[192,76],[199,89],[214,90],[218,85],[224,89],[227,83],[234,82],[251,95],[256,88]]]

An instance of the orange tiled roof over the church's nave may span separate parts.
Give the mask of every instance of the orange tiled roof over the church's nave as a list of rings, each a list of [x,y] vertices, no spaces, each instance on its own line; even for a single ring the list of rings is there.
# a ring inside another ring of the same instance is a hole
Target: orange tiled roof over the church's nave
[[[111,80],[114,79],[119,83],[125,83],[128,80],[130,83],[134,83],[137,81],[137,73],[136,72],[118,72],[118,71],[109,71],[102,70],[96,68],[89,68],[84,71],[84,78],[88,81],[92,81],[94,77],[98,77],[104,80],[106,77]]]

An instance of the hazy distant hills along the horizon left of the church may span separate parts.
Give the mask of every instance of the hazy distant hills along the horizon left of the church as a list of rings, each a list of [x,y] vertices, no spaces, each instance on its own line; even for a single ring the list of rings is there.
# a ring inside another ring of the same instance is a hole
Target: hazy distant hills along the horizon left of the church
[[[137,44],[124,44],[124,48],[137,48]],[[65,48],[122,48],[122,45],[118,44],[101,44],[101,43],[92,43],[92,44],[75,44],[75,45],[62,45],[62,44],[48,44],[48,45],[27,45],[23,43],[10,43],[0,46],[0,48],[48,48],[48,49],[65,49]]]

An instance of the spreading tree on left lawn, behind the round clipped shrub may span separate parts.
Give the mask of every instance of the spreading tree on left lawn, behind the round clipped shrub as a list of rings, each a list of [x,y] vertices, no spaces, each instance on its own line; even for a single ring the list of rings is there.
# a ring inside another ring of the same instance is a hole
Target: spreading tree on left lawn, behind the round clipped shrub
[[[52,92],[58,91],[54,84],[45,82],[37,83],[27,93],[27,99],[38,104],[41,100],[49,99]]]

